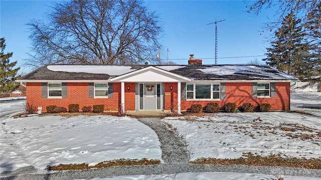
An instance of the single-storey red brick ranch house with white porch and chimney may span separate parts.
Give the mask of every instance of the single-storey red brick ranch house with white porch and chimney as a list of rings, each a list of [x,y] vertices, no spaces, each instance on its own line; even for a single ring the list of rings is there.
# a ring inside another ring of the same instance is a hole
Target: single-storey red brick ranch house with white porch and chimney
[[[21,77],[27,103],[68,108],[104,104],[107,111],[175,110],[192,104],[270,103],[290,109],[290,82],[298,79],[266,65],[45,65]]]

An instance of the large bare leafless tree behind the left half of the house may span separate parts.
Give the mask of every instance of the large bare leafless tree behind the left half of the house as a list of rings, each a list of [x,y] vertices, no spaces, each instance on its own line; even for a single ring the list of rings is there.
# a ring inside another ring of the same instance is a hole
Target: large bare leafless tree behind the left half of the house
[[[46,21],[27,25],[33,53],[26,63],[33,66],[153,62],[163,33],[141,0],[57,1]]]

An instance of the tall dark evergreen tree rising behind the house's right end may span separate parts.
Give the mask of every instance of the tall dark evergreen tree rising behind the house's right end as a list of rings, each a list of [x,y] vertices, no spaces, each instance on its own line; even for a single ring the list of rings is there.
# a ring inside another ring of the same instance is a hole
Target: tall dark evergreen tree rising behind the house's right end
[[[275,38],[271,41],[271,47],[267,48],[268,57],[263,59],[270,66],[297,76],[300,75],[300,68],[306,68],[304,61],[309,59],[309,46],[304,39],[306,32],[300,22],[290,12],[274,32]]]

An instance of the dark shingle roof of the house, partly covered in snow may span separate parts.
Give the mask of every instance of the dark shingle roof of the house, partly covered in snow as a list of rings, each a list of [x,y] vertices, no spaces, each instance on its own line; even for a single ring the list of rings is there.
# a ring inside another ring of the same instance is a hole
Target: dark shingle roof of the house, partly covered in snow
[[[154,66],[194,80],[298,80],[267,65],[47,65],[23,76],[28,80],[108,80],[145,67]],[[146,77],[148,78],[148,77]]]

